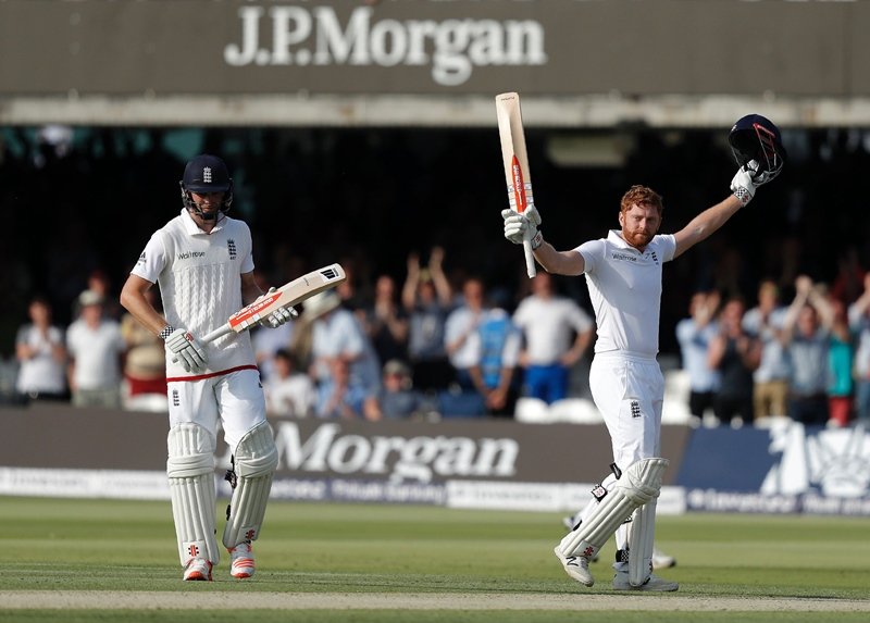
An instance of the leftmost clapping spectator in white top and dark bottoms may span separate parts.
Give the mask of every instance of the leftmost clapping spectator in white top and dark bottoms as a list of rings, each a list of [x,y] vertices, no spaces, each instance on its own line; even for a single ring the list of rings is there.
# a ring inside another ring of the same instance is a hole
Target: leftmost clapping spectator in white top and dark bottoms
[[[18,328],[15,390],[29,400],[66,400],[66,347],[63,331],[51,324],[51,304],[35,297],[27,309],[30,322]]]

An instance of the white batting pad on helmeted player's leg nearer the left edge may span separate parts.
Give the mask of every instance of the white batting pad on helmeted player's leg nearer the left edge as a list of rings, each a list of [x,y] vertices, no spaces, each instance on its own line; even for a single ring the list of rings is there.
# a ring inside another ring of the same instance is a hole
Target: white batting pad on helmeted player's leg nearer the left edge
[[[214,528],[214,444],[199,424],[170,429],[166,445],[172,515],[178,539],[178,558],[186,566],[191,558],[221,559]]]

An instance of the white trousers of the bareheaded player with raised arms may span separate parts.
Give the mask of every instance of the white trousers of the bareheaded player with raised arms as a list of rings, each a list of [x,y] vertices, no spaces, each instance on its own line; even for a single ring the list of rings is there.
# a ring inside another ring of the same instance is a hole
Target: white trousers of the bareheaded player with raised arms
[[[641,459],[661,457],[664,377],[655,358],[596,353],[589,387],[610,433],[613,462],[621,470]],[[623,524],[617,529],[617,548],[627,547],[629,527]]]

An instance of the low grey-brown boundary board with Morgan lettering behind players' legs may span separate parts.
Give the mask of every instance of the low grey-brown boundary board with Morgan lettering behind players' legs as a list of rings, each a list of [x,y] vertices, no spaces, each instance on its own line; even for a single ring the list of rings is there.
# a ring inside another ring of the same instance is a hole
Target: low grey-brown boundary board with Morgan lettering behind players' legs
[[[72,408],[4,409],[0,495],[169,499],[165,415]],[[609,473],[604,425],[270,421],[279,462],[272,497],[574,512]],[[666,426],[675,477],[689,429]],[[215,482],[229,451],[219,440]],[[659,508],[681,512],[679,490]]]

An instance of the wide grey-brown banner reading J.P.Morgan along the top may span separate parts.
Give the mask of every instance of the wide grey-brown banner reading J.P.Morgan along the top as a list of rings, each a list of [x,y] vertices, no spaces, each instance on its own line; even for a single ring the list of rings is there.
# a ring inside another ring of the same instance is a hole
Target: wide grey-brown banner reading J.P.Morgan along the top
[[[866,2],[0,2],[2,95],[870,94]]]

